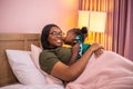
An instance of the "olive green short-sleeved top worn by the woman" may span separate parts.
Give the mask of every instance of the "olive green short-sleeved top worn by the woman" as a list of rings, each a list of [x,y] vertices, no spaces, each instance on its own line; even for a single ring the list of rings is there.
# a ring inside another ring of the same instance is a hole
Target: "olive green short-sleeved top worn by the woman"
[[[71,59],[71,56],[72,52],[70,48],[60,47],[55,49],[43,50],[40,53],[39,63],[43,71],[51,73],[53,66],[58,61],[68,65]]]

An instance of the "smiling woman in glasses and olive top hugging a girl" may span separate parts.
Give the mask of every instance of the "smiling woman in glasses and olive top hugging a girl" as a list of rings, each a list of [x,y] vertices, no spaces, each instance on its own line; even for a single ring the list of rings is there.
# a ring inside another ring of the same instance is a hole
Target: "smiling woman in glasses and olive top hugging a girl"
[[[84,70],[93,51],[103,48],[96,43],[92,44],[79,61],[68,66],[72,58],[72,52],[78,52],[78,46],[73,47],[74,50],[62,47],[63,32],[58,26],[48,24],[43,28],[41,43],[43,47],[43,51],[40,55],[41,69],[63,81],[75,80]]]

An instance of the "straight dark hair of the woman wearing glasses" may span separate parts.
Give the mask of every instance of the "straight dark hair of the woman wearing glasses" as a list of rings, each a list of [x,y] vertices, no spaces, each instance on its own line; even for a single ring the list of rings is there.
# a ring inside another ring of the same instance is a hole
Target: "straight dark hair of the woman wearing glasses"
[[[50,49],[50,44],[48,41],[48,37],[49,37],[49,32],[51,30],[52,27],[57,27],[59,28],[57,24],[47,24],[43,29],[42,29],[42,33],[41,33],[41,44],[43,49]],[[60,28],[59,28],[60,29]]]

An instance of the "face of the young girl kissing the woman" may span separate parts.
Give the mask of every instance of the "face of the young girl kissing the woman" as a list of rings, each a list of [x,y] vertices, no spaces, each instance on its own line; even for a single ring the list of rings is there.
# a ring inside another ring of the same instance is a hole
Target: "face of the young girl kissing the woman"
[[[76,34],[73,31],[68,31],[64,38],[64,43],[73,44],[73,42],[75,41],[75,38],[76,38]]]

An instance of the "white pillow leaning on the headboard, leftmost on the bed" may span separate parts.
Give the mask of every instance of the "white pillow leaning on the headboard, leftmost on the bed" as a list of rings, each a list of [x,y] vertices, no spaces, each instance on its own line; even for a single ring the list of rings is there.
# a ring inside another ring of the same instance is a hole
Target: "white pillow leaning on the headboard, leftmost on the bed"
[[[13,73],[22,85],[45,85],[45,79],[37,69],[29,51],[6,50]]]

